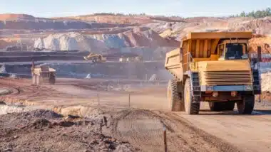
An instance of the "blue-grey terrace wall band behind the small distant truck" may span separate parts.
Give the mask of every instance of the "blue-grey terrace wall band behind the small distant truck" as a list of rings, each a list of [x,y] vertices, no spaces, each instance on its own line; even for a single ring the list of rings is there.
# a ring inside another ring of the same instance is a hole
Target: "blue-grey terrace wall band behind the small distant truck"
[[[68,78],[113,78],[148,80],[158,75],[159,80],[168,80],[171,75],[165,70],[163,62],[147,63],[46,63],[56,69],[56,77]],[[31,64],[5,64],[1,67],[1,76],[31,77]]]

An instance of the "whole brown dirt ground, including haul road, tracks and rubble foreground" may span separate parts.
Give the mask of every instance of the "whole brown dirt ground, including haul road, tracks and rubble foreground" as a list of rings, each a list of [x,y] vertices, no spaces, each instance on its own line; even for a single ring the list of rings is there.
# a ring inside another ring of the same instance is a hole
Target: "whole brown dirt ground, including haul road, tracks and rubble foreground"
[[[257,102],[250,116],[210,112],[204,102],[200,114],[190,116],[168,111],[163,83],[86,87],[108,82],[118,87],[94,79],[58,79],[40,87],[24,79],[1,80],[11,94],[1,97],[7,114],[0,116],[0,151],[163,151],[164,127],[169,151],[270,151],[267,100]]]

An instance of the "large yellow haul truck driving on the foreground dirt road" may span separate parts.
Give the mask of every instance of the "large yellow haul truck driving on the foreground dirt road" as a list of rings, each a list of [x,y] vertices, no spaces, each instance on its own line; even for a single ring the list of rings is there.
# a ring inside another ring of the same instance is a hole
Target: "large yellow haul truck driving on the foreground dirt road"
[[[165,57],[165,69],[174,77],[168,82],[173,112],[198,114],[200,102],[211,111],[251,114],[255,94],[261,93],[260,60],[250,55],[251,32],[189,33],[180,48]]]

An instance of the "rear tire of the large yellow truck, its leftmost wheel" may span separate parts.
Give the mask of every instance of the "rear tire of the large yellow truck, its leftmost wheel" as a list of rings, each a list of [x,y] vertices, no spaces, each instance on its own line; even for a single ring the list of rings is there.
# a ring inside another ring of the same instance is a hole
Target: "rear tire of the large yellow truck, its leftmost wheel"
[[[184,111],[182,94],[178,92],[178,82],[175,80],[168,81],[168,102],[171,112]]]

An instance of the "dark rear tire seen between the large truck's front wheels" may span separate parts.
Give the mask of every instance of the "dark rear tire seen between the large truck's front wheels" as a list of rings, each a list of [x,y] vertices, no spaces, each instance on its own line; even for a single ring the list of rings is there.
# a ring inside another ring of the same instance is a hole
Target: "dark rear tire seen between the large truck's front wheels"
[[[232,111],[235,109],[235,102],[209,102],[209,107],[213,112]]]

